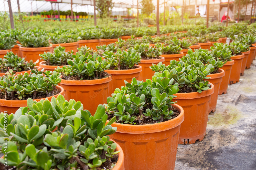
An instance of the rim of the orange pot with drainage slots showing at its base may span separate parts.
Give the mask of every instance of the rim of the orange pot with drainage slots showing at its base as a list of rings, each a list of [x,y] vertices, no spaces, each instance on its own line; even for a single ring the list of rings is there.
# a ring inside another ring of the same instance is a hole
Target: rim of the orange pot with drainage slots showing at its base
[[[209,84],[211,84],[211,89],[208,90],[203,90],[201,93],[196,92],[191,92],[191,93],[176,93],[174,94],[175,98],[173,98],[174,100],[178,100],[178,99],[196,99],[196,98],[201,98],[201,97],[206,97],[209,96],[211,94],[214,93],[214,85],[212,83],[209,82]]]

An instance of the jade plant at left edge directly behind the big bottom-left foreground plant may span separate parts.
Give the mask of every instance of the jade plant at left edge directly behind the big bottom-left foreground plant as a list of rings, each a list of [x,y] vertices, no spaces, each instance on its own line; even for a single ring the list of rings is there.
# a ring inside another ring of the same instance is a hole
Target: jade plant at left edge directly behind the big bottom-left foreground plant
[[[42,76],[37,68],[31,72],[15,75],[10,69],[0,78],[0,91],[5,100],[27,100],[27,98],[45,98],[53,96],[61,78],[57,74]]]

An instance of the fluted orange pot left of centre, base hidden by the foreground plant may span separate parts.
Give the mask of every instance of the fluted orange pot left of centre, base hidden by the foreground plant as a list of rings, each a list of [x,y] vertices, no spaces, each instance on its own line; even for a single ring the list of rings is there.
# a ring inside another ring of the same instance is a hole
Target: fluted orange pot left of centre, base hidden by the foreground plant
[[[111,76],[96,80],[64,80],[60,86],[64,88],[65,99],[81,101],[83,108],[94,115],[99,104],[106,103]]]

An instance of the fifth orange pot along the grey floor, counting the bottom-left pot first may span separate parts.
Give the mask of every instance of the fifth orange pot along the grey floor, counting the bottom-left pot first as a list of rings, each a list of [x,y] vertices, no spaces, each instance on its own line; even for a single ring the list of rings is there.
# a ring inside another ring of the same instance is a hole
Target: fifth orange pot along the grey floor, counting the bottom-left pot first
[[[220,83],[220,91],[219,95],[222,95],[223,93],[226,94],[228,91],[228,84],[229,84],[229,78],[231,75],[231,69],[232,65],[234,64],[234,60],[228,61],[224,66],[221,68],[225,71],[224,77],[222,77],[222,82]]]

